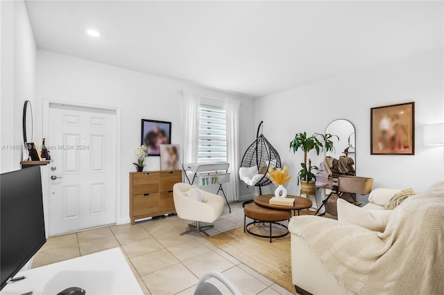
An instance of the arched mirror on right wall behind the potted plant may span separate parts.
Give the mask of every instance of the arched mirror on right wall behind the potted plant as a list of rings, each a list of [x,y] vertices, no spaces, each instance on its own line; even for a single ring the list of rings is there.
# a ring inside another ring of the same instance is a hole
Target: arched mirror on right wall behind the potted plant
[[[339,142],[336,142],[336,138],[333,139],[334,150],[326,152],[325,157],[339,159],[341,156],[348,156],[355,162],[356,170],[355,126],[349,120],[337,119],[325,128],[325,133],[339,136]]]

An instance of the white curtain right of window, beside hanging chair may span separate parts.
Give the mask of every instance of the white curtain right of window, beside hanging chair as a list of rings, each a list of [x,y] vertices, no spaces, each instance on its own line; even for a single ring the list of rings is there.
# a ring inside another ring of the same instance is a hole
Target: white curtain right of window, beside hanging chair
[[[226,192],[228,201],[239,200],[239,100],[227,100],[227,161],[230,163],[230,182]]]

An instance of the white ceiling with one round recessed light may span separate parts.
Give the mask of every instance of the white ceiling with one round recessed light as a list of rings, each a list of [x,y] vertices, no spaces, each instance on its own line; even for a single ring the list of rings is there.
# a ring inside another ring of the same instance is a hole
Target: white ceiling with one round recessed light
[[[250,97],[443,46],[443,1],[26,1],[38,48]],[[85,33],[94,28],[101,37]]]

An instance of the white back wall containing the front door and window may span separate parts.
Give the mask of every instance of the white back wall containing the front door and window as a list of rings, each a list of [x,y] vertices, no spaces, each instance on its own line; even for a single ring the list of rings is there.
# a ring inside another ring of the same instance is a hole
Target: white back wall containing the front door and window
[[[159,78],[135,71],[70,57],[51,51],[37,50],[37,98],[42,114],[42,100],[63,100],[90,105],[121,108],[121,215],[129,222],[128,172],[135,171],[135,150],[140,145],[141,119],[166,120],[172,123],[171,143],[182,143],[181,95],[178,90],[197,91],[203,96],[233,98],[241,105],[241,151],[255,138],[254,102],[232,93],[198,87],[186,82]],[[42,130],[42,118],[38,119]],[[49,118],[51,122],[51,118]],[[41,134],[40,137],[46,134]],[[46,137],[47,138],[47,137]],[[52,145],[47,138],[47,145]],[[158,170],[158,157],[149,157],[146,170]],[[241,190],[241,196],[249,191]]]

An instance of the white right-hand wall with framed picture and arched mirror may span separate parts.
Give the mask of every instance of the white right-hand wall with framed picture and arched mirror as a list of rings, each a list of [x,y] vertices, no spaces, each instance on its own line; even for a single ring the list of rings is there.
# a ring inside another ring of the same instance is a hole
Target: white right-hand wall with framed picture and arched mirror
[[[415,102],[415,155],[370,155],[370,108]],[[356,128],[357,175],[373,177],[373,188],[425,190],[444,177],[443,147],[422,144],[422,126],[444,121],[443,48],[375,66],[255,101],[255,122],[266,120],[264,135],[290,167],[289,193],[297,194],[302,152],[289,152],[298,132],[324,132],[336,118]],[[273,118],[273,120],[271,120]],[[322,157],[312,151],[318,164]]]

